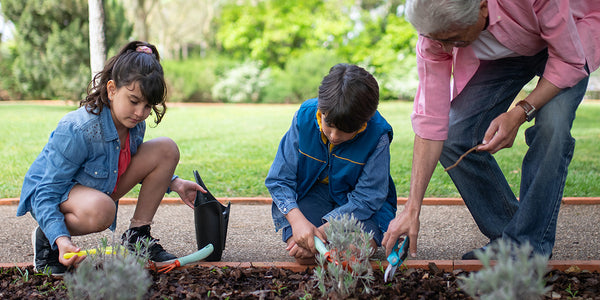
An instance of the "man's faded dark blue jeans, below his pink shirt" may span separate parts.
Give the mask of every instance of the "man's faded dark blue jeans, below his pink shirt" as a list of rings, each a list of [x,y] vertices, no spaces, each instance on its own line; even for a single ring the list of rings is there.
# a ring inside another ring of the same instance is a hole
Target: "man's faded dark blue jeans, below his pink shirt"
[[[481,61],[465,89],[452,101],[450,128],[440,162],[448,167],[481,143],[491,121],[507,111],[535,75],[544,71],[547,51],[530,57]],[[525,131],[529,146],[522,164],[520,201],[488,152],[472,152],[448,173],[477,226],[490,241],[529,242],[550,255],[575,139],[571,127],[589,77],[563,89],[537,113]]]

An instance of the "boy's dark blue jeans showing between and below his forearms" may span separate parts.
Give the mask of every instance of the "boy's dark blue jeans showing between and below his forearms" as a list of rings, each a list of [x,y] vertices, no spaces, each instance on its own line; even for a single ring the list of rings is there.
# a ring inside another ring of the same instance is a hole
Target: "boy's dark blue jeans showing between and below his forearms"
[[[317,227],[326,223],[326,221],[323,220],[323,216],[339,206],[335,200],[329,196],[329,186],[321,183],[313,185],[306,196],[298,199],[297,203],[298,209],[300,209],[304,217]],[[374,217],[361,221],[361,223],[364,225],[366,232],[373,233],[373,239],[377,243],[377,246],[381,246],[383,233],[379,229],[379,226],[377,226]],[[284,242],[292,237],[292,235],[292,226],[288,225],[282,228],[281,238]]]

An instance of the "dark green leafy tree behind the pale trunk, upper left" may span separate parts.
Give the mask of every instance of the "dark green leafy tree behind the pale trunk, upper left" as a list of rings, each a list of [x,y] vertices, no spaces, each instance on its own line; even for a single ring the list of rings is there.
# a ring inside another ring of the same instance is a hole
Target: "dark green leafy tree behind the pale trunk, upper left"
[[[104,5],[110,51],[129,38],[131,25],[116,0]],[[90,81],[87,1],[3,0],[2,10],[15,25],[17,92],[28,99],[81,99]]]

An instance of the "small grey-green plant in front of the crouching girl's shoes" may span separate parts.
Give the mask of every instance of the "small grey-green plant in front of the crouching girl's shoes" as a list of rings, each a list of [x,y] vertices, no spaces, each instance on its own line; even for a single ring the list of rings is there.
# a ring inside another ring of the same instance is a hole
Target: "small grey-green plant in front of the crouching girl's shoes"
[[[127,239],[128,240],[128,239]],[[137,242],[135,251],[127,245],[115,243],[114,254],[105,254],[107,243],[102,240],[102,251],[79,264],[75,272],[65,274],[70,299],[142,299],[152,284],[145,269],[152,244],[148,239]]]

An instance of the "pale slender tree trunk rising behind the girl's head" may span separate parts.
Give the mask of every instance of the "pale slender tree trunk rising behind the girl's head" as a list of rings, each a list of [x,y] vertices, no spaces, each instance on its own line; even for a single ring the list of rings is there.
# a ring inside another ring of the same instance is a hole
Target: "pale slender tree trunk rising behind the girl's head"
[[[90,22],[90,68],[92,79],[104,68],[106,45],[104,42],[104,8],[102,0],[88,0]]]

